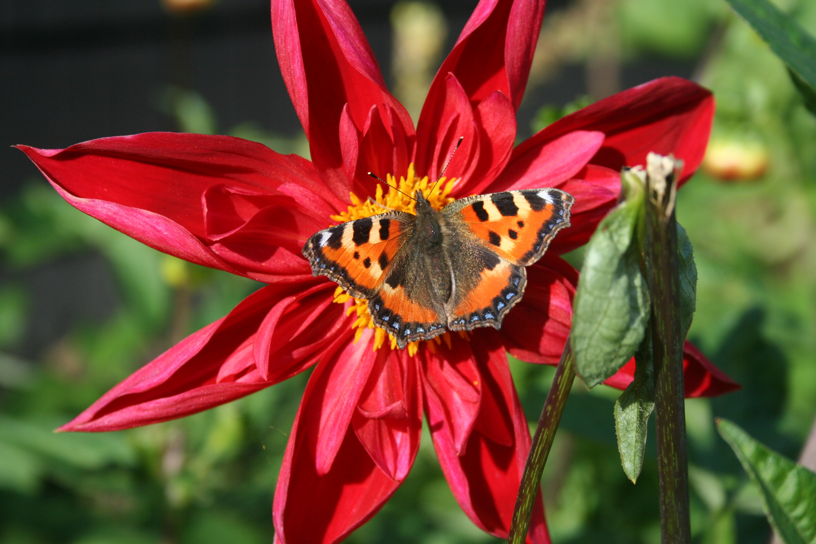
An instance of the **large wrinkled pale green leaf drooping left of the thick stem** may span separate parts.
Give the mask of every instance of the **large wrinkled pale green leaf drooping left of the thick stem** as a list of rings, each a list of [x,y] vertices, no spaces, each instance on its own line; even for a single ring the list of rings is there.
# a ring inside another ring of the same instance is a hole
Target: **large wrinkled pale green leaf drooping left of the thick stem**
[[[573,305],[572,347],[589,387],[632,358],[649,321],[649,291],[641,274],[636,228],[643,192],[612,210],[587,245]]]

